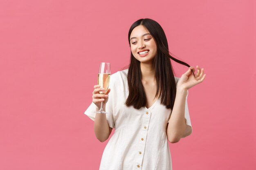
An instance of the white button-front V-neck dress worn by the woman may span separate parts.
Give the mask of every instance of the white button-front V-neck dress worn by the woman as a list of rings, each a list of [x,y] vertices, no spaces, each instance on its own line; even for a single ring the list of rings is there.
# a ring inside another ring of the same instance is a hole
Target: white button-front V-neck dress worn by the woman
[[[101,158],[99,170],[172,170],[166,126],[171,109],[157,100],[150,108],[127,107],[128,69],[110,77],[111,89],[106,104],[106,118],[115,128]],[[176,84],[180,78],[175,77]],[[92,103],[85,111],[92,120],[96,106]],[[185,105],[186,130],[192,132],[189,110]]]

